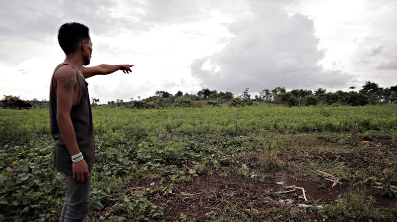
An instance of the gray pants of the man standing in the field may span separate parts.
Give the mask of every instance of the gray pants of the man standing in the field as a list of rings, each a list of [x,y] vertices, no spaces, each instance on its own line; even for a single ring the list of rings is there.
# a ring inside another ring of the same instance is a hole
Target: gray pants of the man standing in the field
[[[61,222],[83,222],[90,206],[91,173],[87,181],[79,183],[66,175],[66,197],[61,212]]]

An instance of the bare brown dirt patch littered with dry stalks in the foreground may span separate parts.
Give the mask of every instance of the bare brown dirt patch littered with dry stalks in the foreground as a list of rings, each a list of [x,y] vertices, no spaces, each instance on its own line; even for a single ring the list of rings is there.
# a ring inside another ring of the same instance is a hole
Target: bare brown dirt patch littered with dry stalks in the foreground
[[[163,185],[170,182],[166,178]],[[277,185],[276,182],[282,181],[285,185],[295,185],[303,187],[306,191],[308,202],[305,202],[299,196],[301,190],[295,192],[276,194],[275,191],[286,190],[283,186]],[[159,179],[142,180],[136,179],[129,186],[149,187],[150,183],[158,184]],[[331,188],[319,187],[315,181],[299,180],[296,176],[288,175],[282,172],[268,174],[262,178],[246,178],[233,173],[230,168],[222,167],[219,171],[212,174],[193,177],[191,181],[182,184],[173,184],[171,192],[162,191],[160,195],[148,195],[146,198],[164,209],[164,215],[158,219],[161,221],[177,221],[181,214],[188,218],[204,221],[211,217],[222,216],[237,217],[244,221],[244,218],[250,217],[254,211],[268,212],[272,207],[291,208],[296,207],[298,203],[313,204],[316,200],[326,203],[333,203],[338,195],[343,195],[357,188],[366,190],[366,195],[375,197],[376,206],[389,206],[395,203],[395,198],[386,198],[376,195],[376,190],[370,187],[357,187],[348,183],[337,185]],[[155,188],[155,187],[152,187]],[[144,189],[144,188],[143,188]],[[164,195],[165,194],[165,195]],[[290,199],[292,204],[286,205],[279,202],[281,199]],[[248,210],[250,209],[250,210]],[[214,215],[216,214],[216,215]],[[268,215],[263,213],[262,219]]]

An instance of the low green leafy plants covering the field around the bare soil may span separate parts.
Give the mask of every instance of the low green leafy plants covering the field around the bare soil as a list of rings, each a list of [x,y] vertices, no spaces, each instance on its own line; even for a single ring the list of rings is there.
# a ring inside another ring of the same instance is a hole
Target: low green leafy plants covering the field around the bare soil
[[[183,96],[179,99],[176,103],[182,107],[195,102]],[[382,163],[386,163],[386,168],[348,169],[343,168],[338,160],[308,164],[313,153],[317,155],[319,150],[327,154],[332,150],[357,153],[362,149],[372,149],[370,146],[351,145],[356,144],[350,142],[357,139],[355,136],[381,135],[396,139],[393,132],[397,130],[397,109],[393,104],[292,108],[212,105],[148,110],[95,107],[97,162],[90,195],[92,212],[95,212],[91,219],[109,222],[157,220],[165,214],[165,205],[157,202],[159,198],[190,195],[183,190],[176,194],[178,190],[175,187],[199,175],[211,175],[221,166],[229,167],[241,179],[261,175],[261,169],[284,169],[297,174],[331,166],[330,173],[339,178],[374,184],[383,194],[396,195],[396,159],[387,154],[390,146],[375,147],[376,152],[385,153],[382,154]],[[0,217],[15,222],[58,220],[65,185],[64,177],[52,169],[53,139],[48,110],[1,109],[0,115]],[[297,145],[302,138],[294,137],[299,133],[309,133],[303,135],[306,140],[302,147]],[[322,133],[321,136],[332,141],[335,147],[324,147],[322,143],[314,146],[313,141],[318,137],[316,133]],[[274,139],[274,134],[280,140]],[[360,138],[358,141],[361,143]],[[239,162],[237,157],[247,153],[259,158],[257,168],[251,169]],[[381,154],[376,155],[373,159],[366,157],[366,161],[379,161]],[[279,160],[284,158],[285,162],[292,162],[298,156],[308,159],[297,168],[288,168]],[[138,179],[150,182],[144,189],[132,190],[136,187],[132,187],[131,182]],[[376,221],[392,214],[389,209],[374,210],[372,205],[367,202],[360,204],[359,200],[352,205],[346,202],[349,198],[340,197],[335,205],[325,210],[310,210],[309,215],[319,220],[343,221],[362,217]],[[363,199],[365,197],[360,200]],[[236,211],[244,212],[247,212],[247,207],[250,206],[234,206]],[[215,213],[211,215],[222,219],[221,213],[217,216]],[[309,217],[300,211],[284,212],[282,208],[269,209],[266,214],[269,217],[272,214],[285,215],[293,221],[306,221],[305,217]],[[260,221],[252,214],[248,216],[249,219],[243,217],[236,221]],[[181,214],[180,217],[186,219],[187,216]]]

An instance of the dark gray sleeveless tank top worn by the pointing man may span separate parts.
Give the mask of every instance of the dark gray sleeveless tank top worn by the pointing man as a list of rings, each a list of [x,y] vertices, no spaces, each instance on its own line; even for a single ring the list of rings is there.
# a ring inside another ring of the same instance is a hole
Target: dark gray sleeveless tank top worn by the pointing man
[[[59,67],[64,65],[69,64],[62,63],[58,65],[55,68],[54,73]],[[92,171],[95,160],[95,143],[90,96],[88,94],[88,83],[77,73],[77,70],[75,71],[78,83],[80,85],[80,94],[78,102],[71,108],[70,119],[73,124],[74,133],[76,134],[77,145],[84,156],[84,160],[88,164],[89,170]],[[54,73],[51,78],[50,85],[50,125],[51,134],[55,139],[54,168],[58,172],[65,173],[66,175],[72,175],[73,163],[71,161],[70,153],[66,148],[64,140],[62,139],[57,122],[57,95],[53,88]]]

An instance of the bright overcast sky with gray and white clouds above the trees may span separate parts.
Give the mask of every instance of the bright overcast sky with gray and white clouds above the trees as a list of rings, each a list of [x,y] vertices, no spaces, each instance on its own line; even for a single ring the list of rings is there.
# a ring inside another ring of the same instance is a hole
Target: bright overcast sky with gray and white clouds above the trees
[[[87,80],[100,103],[202,88],[361,89],[397,85],[396,0],[1,0],[0,95],[47,99],[65,54],[59,27],[90,28]]]

